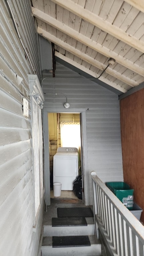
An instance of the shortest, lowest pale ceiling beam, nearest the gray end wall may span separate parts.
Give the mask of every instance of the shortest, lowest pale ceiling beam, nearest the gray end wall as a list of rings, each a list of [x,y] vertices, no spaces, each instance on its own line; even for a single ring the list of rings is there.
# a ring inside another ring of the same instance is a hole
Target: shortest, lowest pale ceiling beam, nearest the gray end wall
[[[81,64],[75,62],[74,60],[71,60],[70,58],[64,56],[63,54],[61,54],[61,53],[55,51],[55,56],[58,57],[58,58],[60,58],[60,59],[62,59],[62,60],[64,60],[65,62],[67,62],[67,63],[73,65],[74,67],[76,67],[76,68],[82,70],[83,72],[85,72],[85,73],[87,73],[87,74],[93,76],[94,78],[97,78],[97,75],[96,75],[96,73],[95,73],[94,71],[92,71],[92,70],[90,70],[90,69],[88,69],[88,68],[82,66]],[[111,87],[113,87],[113,88],[115,88],[115,89],[117,89],[117,90],[119,90],[119,91],[121,91],[121,92],[123,92],[123,93],[127,92],[127,90],[124,89],[123,87],[119,86],[119,85],[116,84],[116,83],[113,83],[113,82],[109,81],[108,79],[106,79],[106,78],[104,78],[104,77],[102,77],[102,76],[101,76],[100,78],[98,78],[98,80],[100,80],[100,81],[102,81],[102,82],[104,82],[104,83],[110,85]]]

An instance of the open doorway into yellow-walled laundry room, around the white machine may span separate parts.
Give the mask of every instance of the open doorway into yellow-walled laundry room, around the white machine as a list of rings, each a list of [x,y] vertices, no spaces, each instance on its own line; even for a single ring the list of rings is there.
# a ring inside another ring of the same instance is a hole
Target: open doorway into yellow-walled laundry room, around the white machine
[[[82,177],[82,152],[81,152],[81,114],[80,113],[48,113],[48,134],[49,134],[49,159],[50,159],[50,197],[53,196],[53,159],[58,148],[67,148],[72,150],[75,148],[78,152],[78,165],[77,165],[77,180],[76,177],[72,180],[76,180],[76,186],[73,191],[71,189],[62,189],[61,197],[80,199],[84,197],[83,191],[83,177]],[[57,160],[58,161],[58,160]],[[60,161],[60,160],[59,160]],[[66,159],[63,160],[64,164]],[[71,159],[70,159],[71,161]],[[68,162],[67,162],[68,163]],[[59,167],[60,169],[60,167]],[[59,178],[60,179],[60,178]],[[66,179],[69,182],[69,178],[61,178],[62,186]],[[71,178],[70,178],[71,179]],[[73,182],[71,181],[71,182]],[[71,185],[70,185],[71,186]],[[69,188],[69,186],[67,185]],[[83,199],[84,201],[84,199]]]

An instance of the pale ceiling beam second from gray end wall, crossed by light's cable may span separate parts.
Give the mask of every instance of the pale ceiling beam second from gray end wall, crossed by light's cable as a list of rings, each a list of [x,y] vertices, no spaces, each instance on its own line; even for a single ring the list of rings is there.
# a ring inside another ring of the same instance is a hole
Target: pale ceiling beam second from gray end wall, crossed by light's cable
[[[62,47],[63,49],[67,50],[68,52],[74,54],[75,56],[81,58],[82,60],[88,62],[89,64],[93,65],[94,67],[97,67],[101,70],[104,70],[106,68],[105,65],[103,65],[101,62],[93,59],[92,57],[86,55],[85,53],[75,49],[74,47],[72,47],[71,45],[63,42],[62,40],[60,40],[59,38],[53,36],[52,34],[50,34],[49,32],[43,30],[42,28],[38,27],[38,34],[40,34],[41,36],[47,38],[48,40],[50,40],[51,42],[53,42],[54,44]],[[131,80],[128,77],[125,77],[124,75],[118,73],[117,71],[113,70],[112,68],[107,68],[106,73],[108,73],[109,75],[115,77],[116,79],[119,79],[120,81],[130,85],[131,87],[137,86],[138,83]]]

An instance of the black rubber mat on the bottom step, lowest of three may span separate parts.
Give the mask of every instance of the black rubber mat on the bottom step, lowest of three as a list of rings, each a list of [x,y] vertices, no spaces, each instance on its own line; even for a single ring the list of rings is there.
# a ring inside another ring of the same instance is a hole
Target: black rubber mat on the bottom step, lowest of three
[[[91,246],[88,236],[53,236],[52,247]]]

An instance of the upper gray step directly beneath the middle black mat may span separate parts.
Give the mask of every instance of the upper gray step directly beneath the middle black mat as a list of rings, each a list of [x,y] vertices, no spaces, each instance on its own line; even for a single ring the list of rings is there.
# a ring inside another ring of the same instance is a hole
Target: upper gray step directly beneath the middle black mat
[[[85,218],[87,226],[58,226],[44,225],[43,236],[78,236],[78,235],[94,235],[94,219],[93,217]]]

